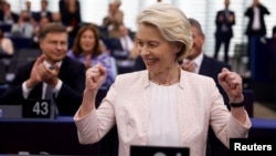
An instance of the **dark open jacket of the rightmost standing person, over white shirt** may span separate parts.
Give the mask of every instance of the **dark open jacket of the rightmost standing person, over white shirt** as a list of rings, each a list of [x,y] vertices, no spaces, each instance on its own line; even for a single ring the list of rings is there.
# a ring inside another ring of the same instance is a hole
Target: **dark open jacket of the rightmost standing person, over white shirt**
[[[265,14],[270,14],[270,12],[267,10],[266,7],[259,4],[258,6],[259,9],[259,22],[261,22],[261,33],[262,35],[266,34],[266,24],[265,24]],[[253,25],[253,20],[254,20],[254,10],[252,7],[250,7],[246,11],[245,11],[245,15],[250,18],[247,28],[246,28],[246,34],[247,35],[252,35],[252,25]]]

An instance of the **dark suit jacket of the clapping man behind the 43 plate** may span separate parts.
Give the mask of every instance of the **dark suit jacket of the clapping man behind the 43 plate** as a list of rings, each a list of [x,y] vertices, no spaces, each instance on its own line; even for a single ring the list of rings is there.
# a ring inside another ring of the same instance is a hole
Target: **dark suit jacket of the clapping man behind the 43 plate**
[[[2,101],[11,102],[11,100],[17,100],[15,103],[24,101],[22,83],[30,77],[33,64],[34,61],[18,69],[14,80],[1,96]],[[63,82],[57,96],[54,98],[59,108],[59,115],[74,115],[82,103],[85,89],[85,66],[83,63],[66,56],[62,62],[59,77]],[[42,83],[38,84],[30,92],[28,98],[41,98],[42,86]]]

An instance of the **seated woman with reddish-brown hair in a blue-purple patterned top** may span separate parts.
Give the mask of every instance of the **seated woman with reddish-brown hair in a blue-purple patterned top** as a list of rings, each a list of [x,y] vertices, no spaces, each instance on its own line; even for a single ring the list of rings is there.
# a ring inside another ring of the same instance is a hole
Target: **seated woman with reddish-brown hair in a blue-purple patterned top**
[[[98,30],[94,24],[83,25],[75,38],[70,58],[83,62],[86,69],[100,63],[107,69],[107,79],[104,87],[108,87],[115,80],[116,66],[112,62],[109,53],[103,46]]]

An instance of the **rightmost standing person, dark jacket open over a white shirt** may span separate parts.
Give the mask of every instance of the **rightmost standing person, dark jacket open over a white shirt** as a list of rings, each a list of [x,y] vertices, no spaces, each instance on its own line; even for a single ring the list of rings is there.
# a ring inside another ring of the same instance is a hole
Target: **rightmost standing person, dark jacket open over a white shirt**
[[[251,43],[253,38],[262,38],[266,35],[265,15],[270,14],[268,9],[259,2],[259,0],[253,0],[252,6],[245,11],[245,17],[250,19],[246,35],[247,35],[247,70],[251,71]]]

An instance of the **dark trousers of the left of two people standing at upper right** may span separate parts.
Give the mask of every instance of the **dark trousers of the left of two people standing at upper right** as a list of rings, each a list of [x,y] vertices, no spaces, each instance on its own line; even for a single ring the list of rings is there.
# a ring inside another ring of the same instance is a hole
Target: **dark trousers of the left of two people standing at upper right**
[[[214,59],[217,59],[219,51],[222,44],[224,44],[224,62],[229,62],[229,45],[230,45],[230,40],[227,35],[220,35],[215,37],[215,45],[214,45]]]

